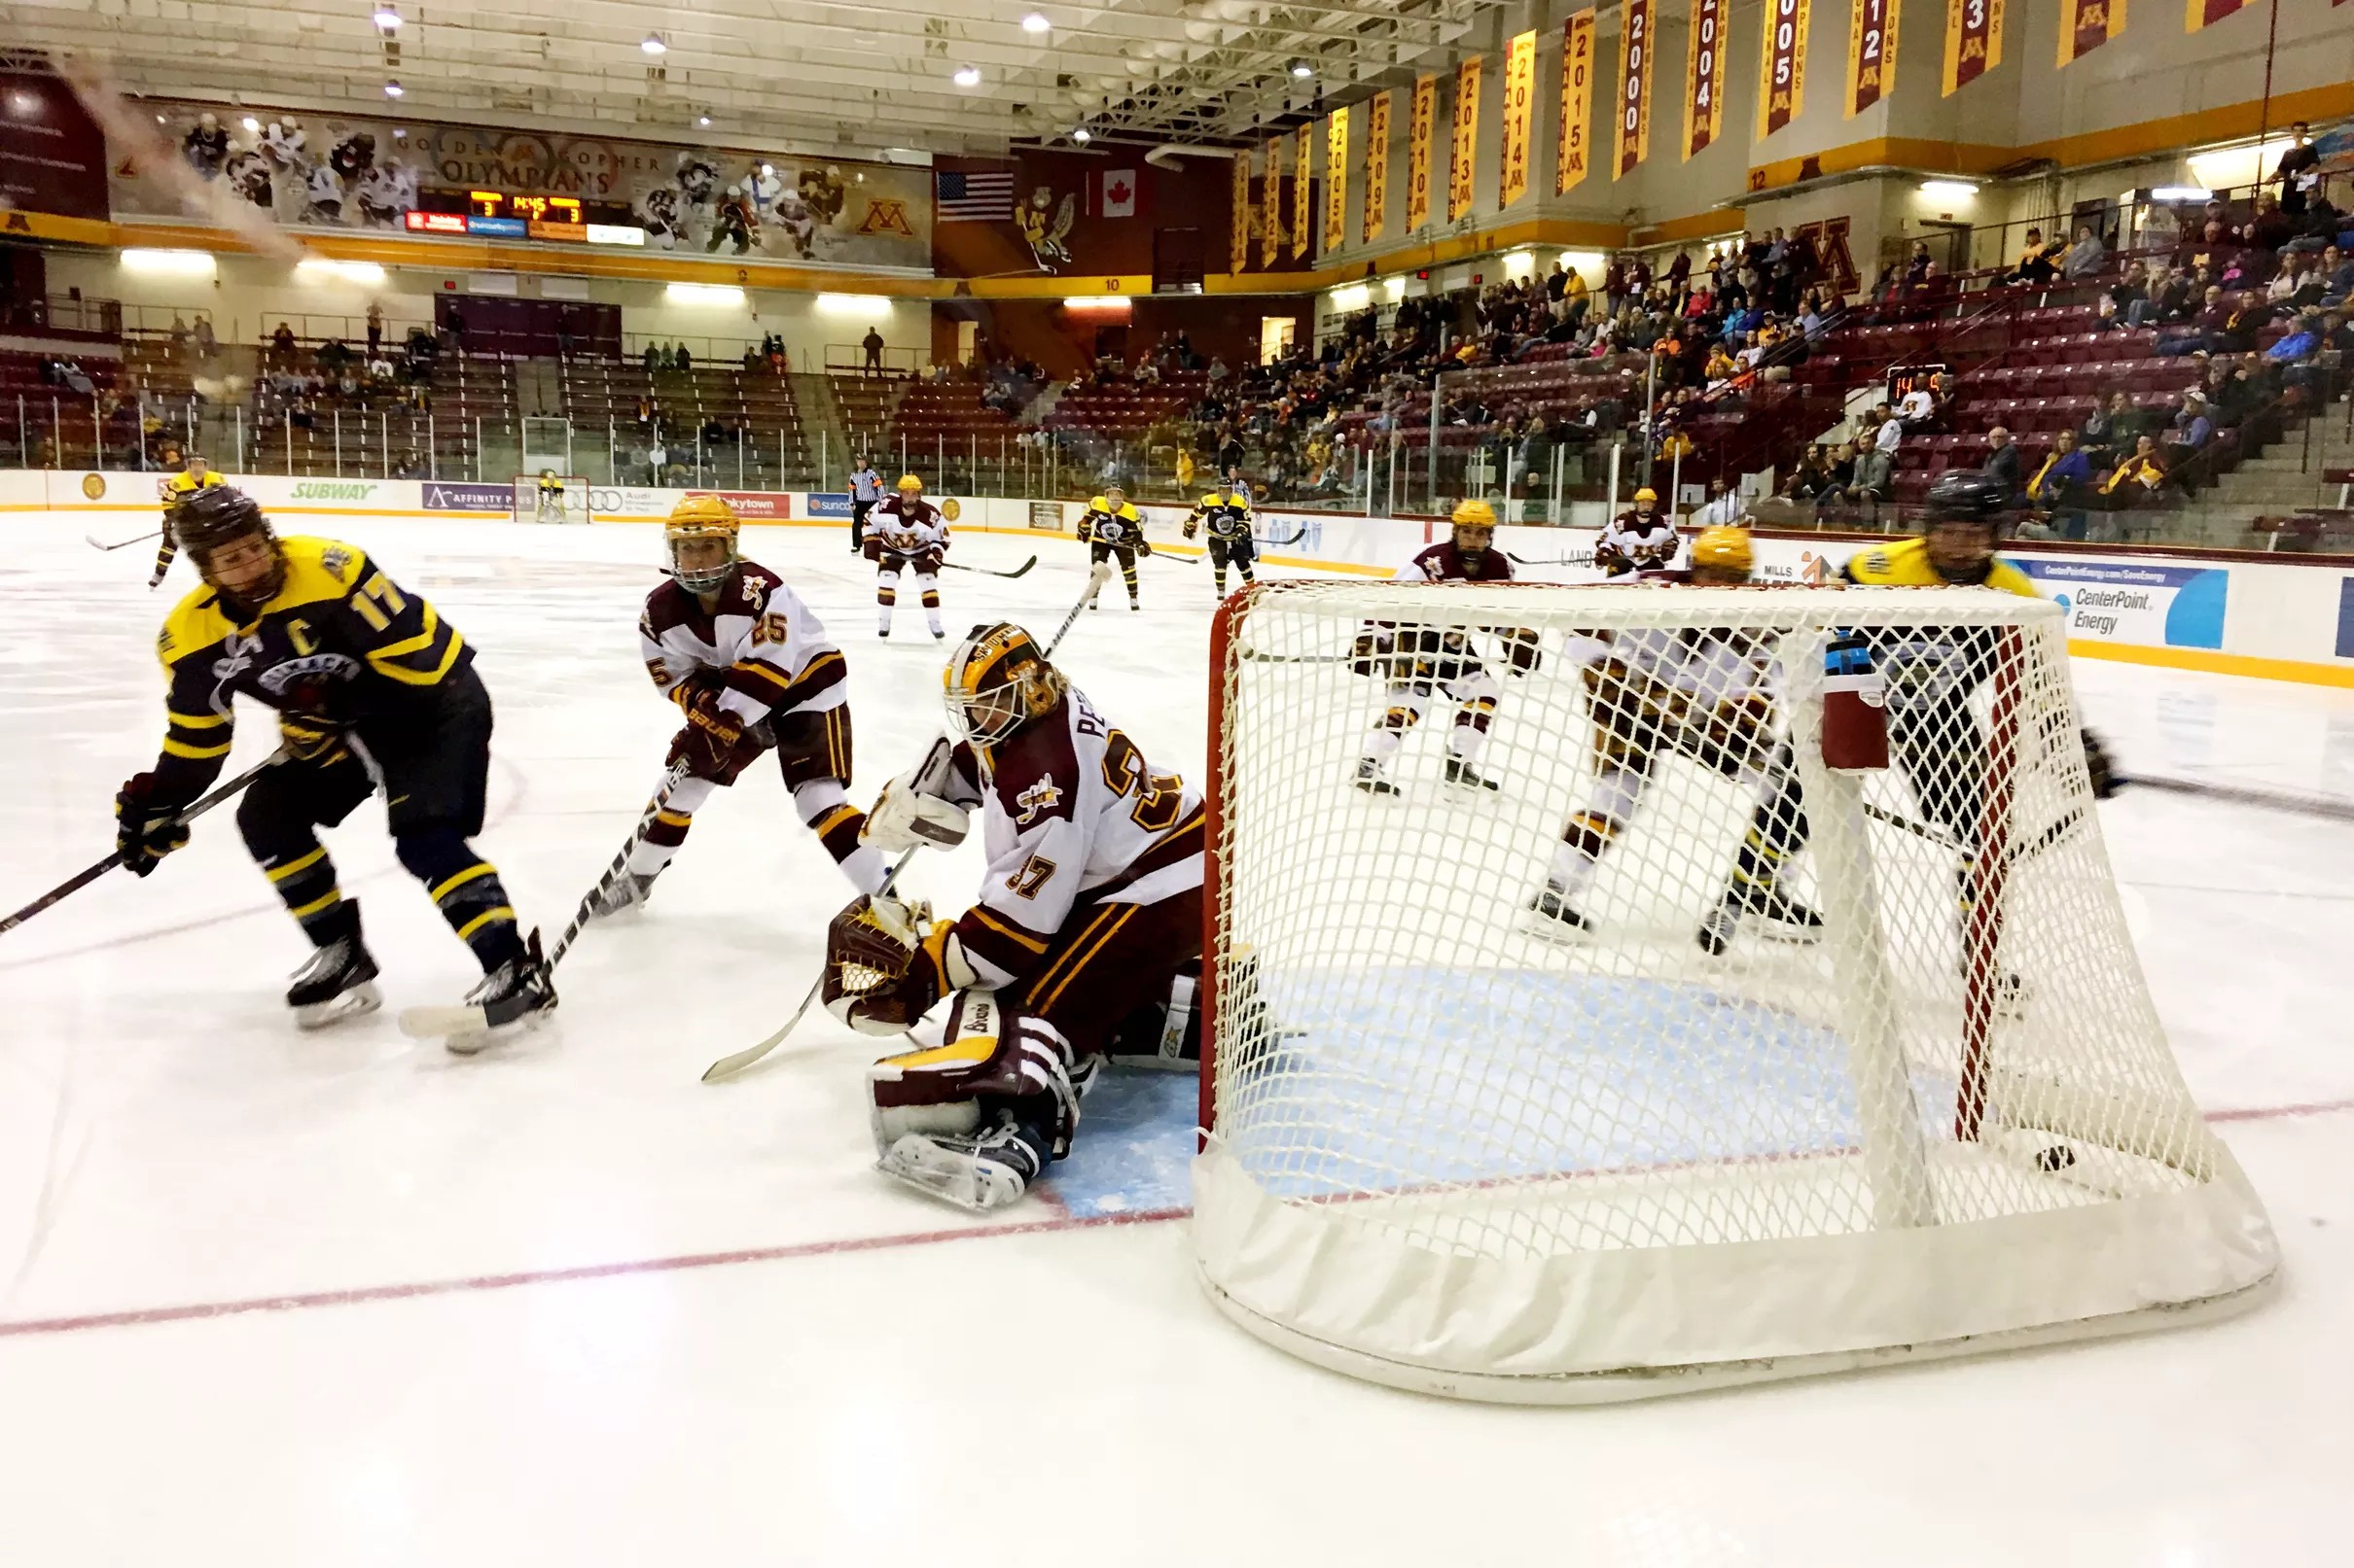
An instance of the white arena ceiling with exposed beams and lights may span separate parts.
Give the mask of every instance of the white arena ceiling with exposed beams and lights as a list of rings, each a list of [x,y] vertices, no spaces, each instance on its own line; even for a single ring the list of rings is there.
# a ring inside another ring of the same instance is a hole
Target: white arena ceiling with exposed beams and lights
[[[1507,12],[1528,9],[1514,0],[0,0],[0,38],[146,96],[843,155],[986,155],[1057,143],[1078,127],[1102,146],[1231,143],[1457,54],[1492,52]],[[386,82],[398,82],[398,99]]]

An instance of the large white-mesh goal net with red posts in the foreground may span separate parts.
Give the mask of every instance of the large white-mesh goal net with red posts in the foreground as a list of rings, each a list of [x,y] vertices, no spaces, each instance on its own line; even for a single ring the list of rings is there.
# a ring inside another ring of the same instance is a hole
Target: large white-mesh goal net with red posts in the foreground
[[[1834,642],[1888,684],[1886,771],[1822,762]],[[1262,583],[1210,752],[1196,1262],[1295,1354],[1634,1399],[2274,1274],[2128,940],[2055,604]],[[1561,867],[1582,929],[1532,910]]]

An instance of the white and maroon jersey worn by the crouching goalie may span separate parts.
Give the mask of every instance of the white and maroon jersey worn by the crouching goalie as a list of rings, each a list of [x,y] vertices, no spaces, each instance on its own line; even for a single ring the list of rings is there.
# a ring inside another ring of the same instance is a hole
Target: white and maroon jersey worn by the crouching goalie
[[[993,748],[989,769],[958,745],[942,795],[982,809],[989,872],[956,940],[989,985],[1036,971],[1076,907],[1201,886],[1201,790],[1144,762],[1078,691]]]

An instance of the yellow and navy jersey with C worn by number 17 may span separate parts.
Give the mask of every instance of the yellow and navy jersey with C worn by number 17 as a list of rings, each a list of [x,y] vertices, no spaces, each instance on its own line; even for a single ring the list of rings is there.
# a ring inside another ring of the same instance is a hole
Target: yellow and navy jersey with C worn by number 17
[[[235,693],[365,736],[374,722],[428,719],[473,665],[457,628],[358,545],[297,534],[278,555],[285,578],[252,618],[198,585],[162,623],[162,799],[195,799],[221,771]]]

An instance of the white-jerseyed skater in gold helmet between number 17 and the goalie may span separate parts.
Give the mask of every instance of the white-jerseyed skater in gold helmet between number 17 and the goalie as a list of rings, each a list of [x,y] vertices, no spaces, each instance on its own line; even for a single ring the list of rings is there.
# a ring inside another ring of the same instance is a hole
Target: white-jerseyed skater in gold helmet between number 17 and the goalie
[[[883,856],[859,844],[850,804],[850,665],[826,628],[774,571],[737,555],[739,522],[718,496],[687,496],[664,524],[671,581],[645,597],[638,642],[654,689],[687,715],[671,762],[687,776],[654,813],[593,914],[645,903],[694,811],[774,750],[793,811],[862,891],[883,886]]]

